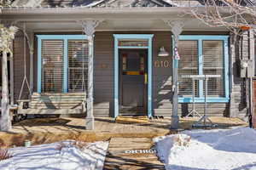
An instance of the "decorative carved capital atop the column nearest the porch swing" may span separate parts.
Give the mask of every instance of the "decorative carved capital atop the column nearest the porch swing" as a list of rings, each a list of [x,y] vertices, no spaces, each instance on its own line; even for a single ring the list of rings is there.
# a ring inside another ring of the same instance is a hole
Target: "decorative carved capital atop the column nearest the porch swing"
[[[96,27],[99,26],[102,20],[79,20],[78,22],[82,25],[84,33],[88,37],[91,37],[96,31]]]

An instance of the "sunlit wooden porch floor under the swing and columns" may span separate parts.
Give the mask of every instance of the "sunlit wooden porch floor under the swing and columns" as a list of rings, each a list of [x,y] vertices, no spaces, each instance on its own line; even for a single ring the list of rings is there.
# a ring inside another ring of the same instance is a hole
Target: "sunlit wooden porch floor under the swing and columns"
[[[219,127],[247,126],[238,118],[211,117]],[[181,118],[181,129],[190,129],[198,118]],[[111,138],[154,138],[170,133],[170,118],[154,119],[143,123],[114,122],[113,118],[96,118],[95,130],[84,129],[84,118],[37,118],[27,119],[13,125],[11,132],[0,133],[0,144],[23,145],[25,139],[32,144],[44,144],[65,139],[76,139],[87,142],[109,140]]]

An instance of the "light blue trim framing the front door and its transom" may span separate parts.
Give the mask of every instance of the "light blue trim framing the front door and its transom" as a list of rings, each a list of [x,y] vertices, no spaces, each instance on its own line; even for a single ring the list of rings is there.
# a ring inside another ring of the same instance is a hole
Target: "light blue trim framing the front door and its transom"
[[[114,117],[119,116],[119,48],[148,48],[148,117],[152,114],[152,38],[153,34],[113,34],[114,37]],[[119,47],[119,39],[146,39],[148,47]]]

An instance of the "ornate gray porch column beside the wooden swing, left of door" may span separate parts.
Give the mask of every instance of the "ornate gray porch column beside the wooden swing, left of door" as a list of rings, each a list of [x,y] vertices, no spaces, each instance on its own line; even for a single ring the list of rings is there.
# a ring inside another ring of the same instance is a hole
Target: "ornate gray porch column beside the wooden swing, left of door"
[[[94,59],[94,33],[96,26],[99,25],[100,20],[83,20],[81,24],[83,31],[88,37],[89,43],[89,59],[88,59],[88,92],[87,92],[87,114],[85,118],[85,128],[87,130],[94,129],[93,116],[93,59]]]

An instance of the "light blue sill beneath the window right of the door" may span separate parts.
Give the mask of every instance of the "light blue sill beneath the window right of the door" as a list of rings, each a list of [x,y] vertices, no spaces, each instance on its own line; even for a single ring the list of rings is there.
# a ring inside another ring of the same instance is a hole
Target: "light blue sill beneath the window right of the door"
[[[209,97],[207,98],[207,103],[228,103],[230,101],[230,98],[212,98]],[[179,103],[192,103],[193,100],[192,98],[188,97],[188,98],[178,98],[178,102]],[[195,98],[195,103],[204,103],[205,102],[205,98]]]

